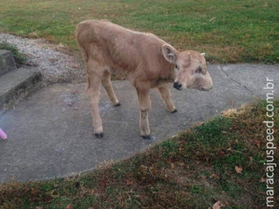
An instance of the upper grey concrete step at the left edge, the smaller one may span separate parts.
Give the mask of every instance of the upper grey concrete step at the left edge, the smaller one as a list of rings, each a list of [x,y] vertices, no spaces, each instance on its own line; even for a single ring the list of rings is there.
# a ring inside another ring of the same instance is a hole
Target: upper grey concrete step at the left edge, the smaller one
[[[15,70],[15,59],[10,51],[0,49],[0,76]]]

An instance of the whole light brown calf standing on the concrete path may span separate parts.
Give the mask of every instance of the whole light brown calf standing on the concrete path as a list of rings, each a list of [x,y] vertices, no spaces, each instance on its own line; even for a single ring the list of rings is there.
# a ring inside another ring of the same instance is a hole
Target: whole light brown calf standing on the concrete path
[[[75,39],[87,66],[87,93],[93,129],[98,138],[103,137],[98,109],[100,84],[112,104],[120,105],[110,81],[112,70],[126,72],[137,90],[140,134],[144,139],[150,139],[148,115],[151,88],[158,89],[165,106],[172,113],[176,112],[176,108],[170,99],[167,83],[174,82],[177,90],[196,88],[209,91],[212,88],[204,54],[190,50],[179,52],[152,33],[131,31],[106,20],[86,20],[77,25]]]

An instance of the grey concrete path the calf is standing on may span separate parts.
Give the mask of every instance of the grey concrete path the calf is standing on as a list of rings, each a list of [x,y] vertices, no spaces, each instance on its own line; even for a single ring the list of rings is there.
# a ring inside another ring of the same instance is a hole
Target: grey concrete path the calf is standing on
[[[195,121],[265,98],[266,77],[274,79],[278,98],[279,65],[209,65],[213,89],[176,91],[169,85],[178,112],[169,113],[156,90],[151,92],[151,135],[140,137],[135,89],[113,82],[120,107],[113,107],[103,89],[100,113],[105,137],[96,139],[84,84],[54,84],[37,91],[0,116],[8,134],[0,140],[0,182],[42,180],[90,171],[104,160],[121,160],[157,141],[172,137]],[[69,105],[70,104],[70,105]],[[193,150],[195,151],[195,150]]]

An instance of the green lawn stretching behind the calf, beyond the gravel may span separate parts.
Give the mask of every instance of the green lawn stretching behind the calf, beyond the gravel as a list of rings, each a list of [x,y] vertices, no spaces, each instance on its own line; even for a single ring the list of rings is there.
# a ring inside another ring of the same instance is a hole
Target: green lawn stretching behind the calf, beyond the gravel
[[[178,49],[206,52],[219,63],[279,61],[276,0],[2,0],[0,29],[45,38],[77,50],[73,31],[88,19],[107,19],[149,31]]]

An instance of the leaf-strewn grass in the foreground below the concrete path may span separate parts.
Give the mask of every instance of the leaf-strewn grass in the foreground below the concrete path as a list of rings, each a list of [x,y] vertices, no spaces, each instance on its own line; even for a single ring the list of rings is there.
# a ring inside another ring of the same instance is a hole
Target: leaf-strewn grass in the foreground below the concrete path
[[[278,113],[279,100],[274,106]],[[257,101],[80,176],[6,183],[0,208],[212,208],[218,200],[223,208],[264,208],[265,120],[266,102]],[[278,114],[274,121],[279,127]],[[278,145],[278,130],[274,138]]]

